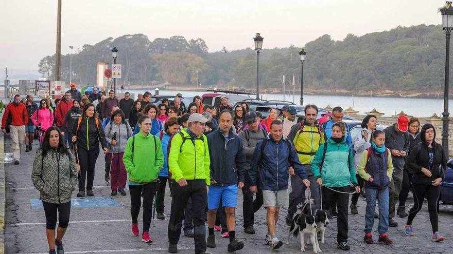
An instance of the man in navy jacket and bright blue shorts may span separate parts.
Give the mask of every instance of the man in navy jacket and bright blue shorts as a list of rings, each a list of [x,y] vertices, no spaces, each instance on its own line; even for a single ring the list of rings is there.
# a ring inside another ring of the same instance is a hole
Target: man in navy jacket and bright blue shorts
[[[228,251],[240,250],[243,242],[235,239],[235,208],[238,188],[244,187],[246,153],[241,139],[233,133],[233,114],[224,110],[219,115],[219,129],[207,135],[211,158],[211,185],[207,193],[207,228],[209,235],[206,246],[216,247],[214,224],[220,200],[226,212],[226,226],[230,235]]]

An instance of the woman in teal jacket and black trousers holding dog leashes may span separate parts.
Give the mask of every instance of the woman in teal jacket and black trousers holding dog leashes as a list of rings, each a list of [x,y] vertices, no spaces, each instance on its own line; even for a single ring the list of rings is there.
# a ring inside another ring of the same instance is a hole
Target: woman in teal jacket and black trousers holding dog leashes
[[[332,136],[319,147],[311,164],[311,171],[316,182],[321,185],[322,209],[328,210],[332,201],[337,203],[337,247],[349,250],[347,205],[350,186],[352,183],[356,192],[360,192],[360,187],[354,171],[352,148],[344,139],[345,133],[345,123],[336,122],[332,125]]]

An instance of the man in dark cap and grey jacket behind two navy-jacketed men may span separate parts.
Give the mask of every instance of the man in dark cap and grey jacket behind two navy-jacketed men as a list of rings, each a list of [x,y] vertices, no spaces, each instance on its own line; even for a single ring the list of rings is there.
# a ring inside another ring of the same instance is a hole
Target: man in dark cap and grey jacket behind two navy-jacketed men
[[[242,188],[243,202],[242,212],[244,217],[244,231],[253,234],[253,224],[255,223],[254,213],[263,205],[263,191],[258,190],[256,199],[253,200],[253,192],[250,191],[250,180],[248,179],[247,171],[250,169],[250,162],[253,159],[255,146],[260,141],[266,138],[267,132],[258,128],[256,114],[248,112],[245,116],[245,122],[248,129],[239,133],[239,138],[242,141],[244,150],[246,152],[246,186]]]

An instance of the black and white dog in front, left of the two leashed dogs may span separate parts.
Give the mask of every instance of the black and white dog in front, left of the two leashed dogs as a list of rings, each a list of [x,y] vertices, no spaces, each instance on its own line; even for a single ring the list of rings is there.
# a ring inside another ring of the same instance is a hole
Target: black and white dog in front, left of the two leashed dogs
[[[287,242],[289,243],[289,237],[291,236],[291,234],[294,237],[300,235],[301,251],[305,251],[305,248],[307,248],[307,246],[305,245],[304,237],[306,235],[308,237],[307,242],[313,243],[313,252],[318,253],[321,252],[321,249],[319,248],[318,244],[318,238],[316,237],[318,225],[315,216],[303,212],[307,204],[308,203],[304,203],[302,209],[300,209],[301,212],[298,212],[294,215],[291,227],[289,229]]]

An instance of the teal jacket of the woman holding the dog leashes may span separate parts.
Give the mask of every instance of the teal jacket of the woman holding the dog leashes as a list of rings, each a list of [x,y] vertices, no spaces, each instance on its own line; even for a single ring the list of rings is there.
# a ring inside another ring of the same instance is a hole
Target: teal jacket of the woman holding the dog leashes
[[[320,172],[319,167],[325,145],[327,145],[327,150]],[[321,178],[322,185],[327,187],[344,187],[351,183],[356,186],[357,178],[353,164],[352,149],[346,144],[345,140],[336,143],[332,138],[329,138],[316,152],[315,159],[311,163],[311,171],[313,177],[315,179]]]

